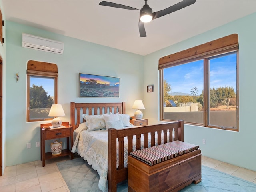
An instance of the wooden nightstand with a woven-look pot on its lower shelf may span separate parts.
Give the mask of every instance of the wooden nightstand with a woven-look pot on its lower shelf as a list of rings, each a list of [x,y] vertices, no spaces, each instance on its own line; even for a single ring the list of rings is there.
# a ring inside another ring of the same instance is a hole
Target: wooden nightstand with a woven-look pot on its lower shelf
[[[52,124],[41,124],[41,161],[43,163],[43,167],[45,166],[45,160],[47,159],[68,155],[70,155],[71,159],[74,158],[74,154],[71,152],[73,146],[73,127],[69,125],[69,122],[62,122],[62,126],[59,128],[45,129],[49,128],[49,126],[52,126]],[[66,137],[67,139],[67,149],[62,150],[62,153],[60,155],[53,156],[52,152],[45,152],[45,140],[54,140],[64,137]],[[69,137],[71,140],[70,150]]]

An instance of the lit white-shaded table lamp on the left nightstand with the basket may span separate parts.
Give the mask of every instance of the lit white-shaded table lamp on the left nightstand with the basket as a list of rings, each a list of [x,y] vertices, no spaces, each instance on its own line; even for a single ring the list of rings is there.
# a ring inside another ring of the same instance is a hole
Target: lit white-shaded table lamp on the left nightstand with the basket
[[[62,121],[60,120],[60,116],[65,116],[64,110],[62,108],[61,104],[52,104],[52,107],[49,112],[49,117],[54,117],[52,120],[52,126],[53,127],[60,127],[62,124]]]

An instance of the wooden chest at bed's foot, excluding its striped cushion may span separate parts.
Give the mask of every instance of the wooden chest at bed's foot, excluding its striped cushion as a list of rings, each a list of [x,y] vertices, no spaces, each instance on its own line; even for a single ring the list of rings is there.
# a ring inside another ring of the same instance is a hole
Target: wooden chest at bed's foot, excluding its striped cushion
[[[177,192],[201,181],[201,150],[150,166],[128,156],[129,192]]]

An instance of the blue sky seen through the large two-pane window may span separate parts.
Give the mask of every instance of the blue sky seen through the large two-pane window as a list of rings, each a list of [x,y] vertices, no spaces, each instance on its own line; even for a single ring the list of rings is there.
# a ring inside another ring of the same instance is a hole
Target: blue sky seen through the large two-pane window
[[[203,60],[164,69],[164,80],[171,85],[172,92],[191,94],[196,87],[200,95],[203,90]],[[227,54],[210,59],[210,88],[230,86],[236,92],[236,54]],[[170,94],[171,94],[170,93]]]

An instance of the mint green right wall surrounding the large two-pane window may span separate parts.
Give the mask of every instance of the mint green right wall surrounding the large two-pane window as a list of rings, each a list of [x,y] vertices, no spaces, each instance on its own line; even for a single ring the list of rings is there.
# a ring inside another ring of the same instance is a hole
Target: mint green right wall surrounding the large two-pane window
[[[144,57],[144,87],[154,84],[154,93],[144,94],[144,116],[158,122],[158,60],[224,36],[237,33],[239,39],[239,132],[185,125],[184,140],[198,144],[204,156],[256,171],[255,42],[256,13],[230,22]],[[189,32],[189,29],[188,29]],[[154,102],[152,102],[154,101]],[[202,144],[206,139],[206,144]]]

